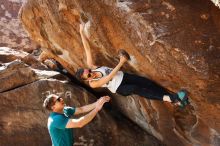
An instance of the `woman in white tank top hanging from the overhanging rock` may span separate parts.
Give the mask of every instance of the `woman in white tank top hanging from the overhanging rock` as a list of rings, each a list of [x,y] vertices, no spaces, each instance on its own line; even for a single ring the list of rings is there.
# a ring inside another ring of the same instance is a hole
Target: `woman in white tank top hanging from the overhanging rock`
[[[121,51],[120,61],[114,69],[94,65],[88,38],[84,34],[84,26],[84,23],[80,24],[80,35],[86,53],[87,65],[90,69],[78,69],[76,78],[81,81],[88,81],[91,88],[107,87],[112,93],[123,96],[136,94],[147,99],[171,102],[180,107],[185,107],[189,103],[185,90],[170,93],[145,77],[119,71],[122,65],[129,60],[129,54],[126,51]]]

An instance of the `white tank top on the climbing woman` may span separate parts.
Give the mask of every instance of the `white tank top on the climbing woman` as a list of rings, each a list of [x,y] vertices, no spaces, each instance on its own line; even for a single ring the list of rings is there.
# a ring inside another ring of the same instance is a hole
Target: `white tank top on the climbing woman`
[[[109,68],[109,67],[106,67],[106,66],[102,66],[102,67],[99,67],[99,68],[94,69],[92,71],[94,71],[94,72],[95,71],[101,72],[102,73],[102,77],[105,77],[105,76],[109,75],[112,70],[113,70],[112,68]],[[107,87],[112,93],[115,93],[116,90],[118,89],[119,85],[122,82],[123,76],[124,76],[124,73],[122,71],[118,71],[116,73],[116,75],[108,83],[102,85],[102,87]],[[94,80],[99,80],[101,78],[93,79],[93,81]]]

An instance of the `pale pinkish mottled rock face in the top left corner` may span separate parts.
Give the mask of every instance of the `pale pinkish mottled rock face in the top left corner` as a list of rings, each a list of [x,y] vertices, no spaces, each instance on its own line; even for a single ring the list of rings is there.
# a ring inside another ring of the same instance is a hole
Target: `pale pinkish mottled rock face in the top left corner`
[[[30,51],[34,45],[22,28],[18,11],[25,0],[0,1],[0,47]]]

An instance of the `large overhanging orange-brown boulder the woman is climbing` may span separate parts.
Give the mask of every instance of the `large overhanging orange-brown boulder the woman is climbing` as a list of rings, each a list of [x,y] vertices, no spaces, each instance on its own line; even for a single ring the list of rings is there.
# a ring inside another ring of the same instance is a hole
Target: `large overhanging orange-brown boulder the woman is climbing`
[[[167,145],[219,145],[220,11],[211,1],[28,0],[20,12],[30,37],[70,72],[86,63],[79,36],[83,12],[98,65],[114,67],[124,48],[132,57],[124,70],[190,92],[192,106],[182,111],[117,96],[125,115]]]

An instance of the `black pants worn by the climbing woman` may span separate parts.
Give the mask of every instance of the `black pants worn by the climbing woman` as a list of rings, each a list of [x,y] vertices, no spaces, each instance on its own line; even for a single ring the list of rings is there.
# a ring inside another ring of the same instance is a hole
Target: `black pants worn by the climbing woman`
[[[135,74],[124,73],[122,83],[116,93],[123,96],[137,94],[147,99],[163,100],[164,95],[170,95],[167,89],[157,83]]]

